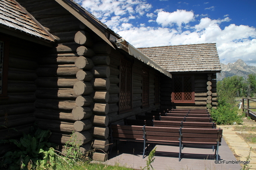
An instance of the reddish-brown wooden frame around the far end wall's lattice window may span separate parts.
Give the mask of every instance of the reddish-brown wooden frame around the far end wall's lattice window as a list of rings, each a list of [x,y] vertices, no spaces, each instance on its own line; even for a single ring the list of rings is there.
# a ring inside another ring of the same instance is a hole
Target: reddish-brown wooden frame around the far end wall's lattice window
[[[175,81],[174,78],[181,77],[182,78],[182,100],[174,100],[175,95]],[[184,100],[184,77],[191,77],[191,100]],[[171,93],[171,101],[173,103],[195,103],[195,96],[194,96],[194,75],[173,75],[173,81],[172,81],[172,93]]]

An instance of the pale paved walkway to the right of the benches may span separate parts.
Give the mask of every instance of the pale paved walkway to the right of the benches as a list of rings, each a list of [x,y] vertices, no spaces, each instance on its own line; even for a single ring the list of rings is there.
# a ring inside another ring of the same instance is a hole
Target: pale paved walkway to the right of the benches
[[[223,129],[223,138],[227,141],[228,146],[236,156],[237,160],[246,161],[246,157],[249,155],[250,147],[256,148],[256,144],[247,144],[237,133],[254,133],[256,132],[244,132],[234,131],[235,126],[248,126],[256,127],[255,121],[248,121],[244,119],[242,125],[224,125],[218,126]],[[251,170],[256,170],[256,153],[250,152],[250,164]]]

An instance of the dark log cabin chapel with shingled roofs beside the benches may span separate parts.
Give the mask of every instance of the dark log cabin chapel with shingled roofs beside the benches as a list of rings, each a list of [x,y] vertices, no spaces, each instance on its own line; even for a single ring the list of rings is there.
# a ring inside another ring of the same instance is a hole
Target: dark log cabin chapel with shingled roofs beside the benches
[[[136,49],[73,0],[0,1],[0,140],[38,122],[60,150],[75,131],[107,152],[110,123],[216,107],[220,71],[215,43]]]

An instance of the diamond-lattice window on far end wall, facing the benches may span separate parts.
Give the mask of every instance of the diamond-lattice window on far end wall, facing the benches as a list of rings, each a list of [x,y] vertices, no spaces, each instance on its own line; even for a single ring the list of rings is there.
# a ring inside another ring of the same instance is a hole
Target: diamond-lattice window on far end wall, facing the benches
[[[194,76],[175,76],[173,78],[172,102],[194,103]]]

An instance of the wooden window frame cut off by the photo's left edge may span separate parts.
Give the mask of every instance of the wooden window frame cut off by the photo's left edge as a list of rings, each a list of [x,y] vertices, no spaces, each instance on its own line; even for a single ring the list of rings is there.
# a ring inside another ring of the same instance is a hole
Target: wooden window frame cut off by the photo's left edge
[[[3,70],[2,70],[2,78],[0,82],[1,92],[0,98],[8,98],[7,89],[8,89],[8,62],[9,62],[9,38],[5,36],[0,37],[0,41],[3,42]]]

